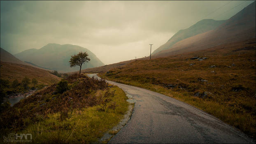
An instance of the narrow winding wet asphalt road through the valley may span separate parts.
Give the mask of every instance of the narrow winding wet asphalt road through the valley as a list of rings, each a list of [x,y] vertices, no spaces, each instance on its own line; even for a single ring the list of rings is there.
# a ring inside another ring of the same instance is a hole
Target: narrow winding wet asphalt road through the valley
[[[184,102],[144,88],[107,82],[135,100],[130,121],[109,143],[255,143],[218,118]]]

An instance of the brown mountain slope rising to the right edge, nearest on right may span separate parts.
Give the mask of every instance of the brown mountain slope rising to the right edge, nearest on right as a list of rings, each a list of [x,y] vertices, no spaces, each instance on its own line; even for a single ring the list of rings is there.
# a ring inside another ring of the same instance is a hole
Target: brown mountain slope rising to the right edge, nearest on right
[[[159,51],[152,57],[164,57],[184,52],[207,49],[221,44],[255,39],[255,1],[226,20],[214,30],[198,34],[175,43],[170,49]]]

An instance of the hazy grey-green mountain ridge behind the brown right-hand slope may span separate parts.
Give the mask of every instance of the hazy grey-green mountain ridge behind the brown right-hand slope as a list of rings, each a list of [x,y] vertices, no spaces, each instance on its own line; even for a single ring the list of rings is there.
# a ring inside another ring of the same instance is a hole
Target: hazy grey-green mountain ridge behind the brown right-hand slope
[[[222,23],[224,23],[226,20],[222,21],[215,21],[213,19],[203,19],[201,21],[198,21],[193,26],[185,29],[185,30],[179,30],[178,33],[173,35],[168,42],[160,46],[158,49],[156,49],[152,54],[158,53],[159,51],[163,51],[165,49],[170,49],[176,42],[179,42],[183,39],[186,39],[188,37],[192,37],[194,35],[198,35],[200,33],[205,33],[209,30],[213,30],[216,27],[220,26]]]

